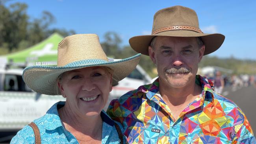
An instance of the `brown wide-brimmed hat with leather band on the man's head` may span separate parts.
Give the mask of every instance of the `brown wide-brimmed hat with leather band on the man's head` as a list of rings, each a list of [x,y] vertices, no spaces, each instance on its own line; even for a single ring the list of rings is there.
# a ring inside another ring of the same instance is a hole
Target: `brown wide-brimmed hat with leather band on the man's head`
[[[204,55],[217,50],[225,39],[219,33],[203,33],[199,28],[197,13],[183,6],[167,7],[156,12],[152,34],[132,37],[129,43],[136,52],[148,55],[148,46],[156,36],[201,37],[205,45]]]

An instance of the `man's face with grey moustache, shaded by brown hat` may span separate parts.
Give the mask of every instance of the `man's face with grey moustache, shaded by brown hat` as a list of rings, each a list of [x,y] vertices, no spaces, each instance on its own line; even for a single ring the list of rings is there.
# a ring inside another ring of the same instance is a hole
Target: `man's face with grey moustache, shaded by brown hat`
[[[195,37],[156,37],[149,56],[155,63],[159,81],[170,88],[182,88],[195,83],[198,63],[205,46],[199,48]]]

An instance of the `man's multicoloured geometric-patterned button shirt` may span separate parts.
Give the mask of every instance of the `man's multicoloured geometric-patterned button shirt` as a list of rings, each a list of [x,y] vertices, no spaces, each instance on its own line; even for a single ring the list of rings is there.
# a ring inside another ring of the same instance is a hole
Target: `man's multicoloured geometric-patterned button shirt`
[[[159,81],[113,100],[107,113],[124,126],[130,144],[254,144],[245,114],[237,105],[215,93],[212,82],[196,76],[202,93],[174,121],[158,93]]]

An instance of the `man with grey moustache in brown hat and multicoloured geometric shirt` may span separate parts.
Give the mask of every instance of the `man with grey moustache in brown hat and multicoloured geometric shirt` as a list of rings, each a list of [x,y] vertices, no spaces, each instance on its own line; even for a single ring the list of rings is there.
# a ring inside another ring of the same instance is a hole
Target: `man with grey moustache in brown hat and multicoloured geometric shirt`
[[[152,35],[129,40],[136,52],[150,56],[159,76],[109,105],[129,143],[255,143],[241,109],[196,75],[202,56],[223,41],[224,35],[202,33],[195,11],[182,6],[161,9]]]

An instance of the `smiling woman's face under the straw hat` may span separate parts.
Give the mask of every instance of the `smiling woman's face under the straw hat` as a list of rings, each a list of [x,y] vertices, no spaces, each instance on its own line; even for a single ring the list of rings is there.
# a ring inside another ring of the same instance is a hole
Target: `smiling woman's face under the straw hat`
[[[70,70],[58,82],[65,106],[86,116],[100,114],[112,90],[112,75],[102,66]]]

